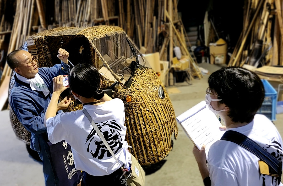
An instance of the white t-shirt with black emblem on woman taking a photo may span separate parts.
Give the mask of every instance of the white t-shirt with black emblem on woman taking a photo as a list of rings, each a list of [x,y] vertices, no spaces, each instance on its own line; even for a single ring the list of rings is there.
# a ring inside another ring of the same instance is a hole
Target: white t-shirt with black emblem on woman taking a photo
[[[85,105],[121,165],[126,164],[125,108],[121,99]],[[93,176],[109,175],[119,167],[82,110],[57,114],[46,121],[52,144],[65,140],[72,147],[75,167]]]

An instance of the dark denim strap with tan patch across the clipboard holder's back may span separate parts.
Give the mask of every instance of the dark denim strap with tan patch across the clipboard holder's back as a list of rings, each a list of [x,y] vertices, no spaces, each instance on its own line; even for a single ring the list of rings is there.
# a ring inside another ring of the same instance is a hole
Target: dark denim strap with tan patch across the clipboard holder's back
[[[238,144],[256,155],[260,159],[259,166],[261,174],[278,177],[279,181],[281,181],[282,163],[259,146],[254,140],[236,131],[226,131],[221,140]]]

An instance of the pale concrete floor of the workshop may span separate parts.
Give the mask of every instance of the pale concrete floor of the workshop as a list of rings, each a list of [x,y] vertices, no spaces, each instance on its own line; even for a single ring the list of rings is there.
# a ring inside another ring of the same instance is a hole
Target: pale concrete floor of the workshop
[[[220,67],[206,63],[199,66],[214,72]],[[180,93],[170,94],[170,99],[179,116],[195,104],[203,101],[208,86],[209,75],[201,80],[193,80],[192,85],[177,84]],[[168,87],[170,92],[172,87]],[[25,144],[16,138],[9,120],[8,110],[0,112],[0,185],[5,186],[44,186],[42,164],[29,157]],[[276,115],[274,121],[278,131],[283,135],[283,114]],[[192,154],[193,143],[185,134],[180,125],[178,138],[174,140],[174,147],[169,155],[156,166],[145,167],[147,186],[159,185],[194,185],[202,186],[203,182],[198,166]]]

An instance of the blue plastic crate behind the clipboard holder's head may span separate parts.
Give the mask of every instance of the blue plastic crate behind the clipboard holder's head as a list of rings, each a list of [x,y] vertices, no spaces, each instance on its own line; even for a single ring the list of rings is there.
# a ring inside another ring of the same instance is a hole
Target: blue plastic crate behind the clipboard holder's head
[[[263,114],[270,120],[276,120],[277,92],[267,80],[261,80],[265,90],[265,97],[257,114]]]

